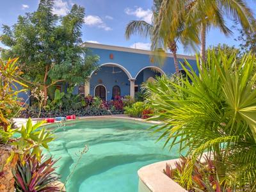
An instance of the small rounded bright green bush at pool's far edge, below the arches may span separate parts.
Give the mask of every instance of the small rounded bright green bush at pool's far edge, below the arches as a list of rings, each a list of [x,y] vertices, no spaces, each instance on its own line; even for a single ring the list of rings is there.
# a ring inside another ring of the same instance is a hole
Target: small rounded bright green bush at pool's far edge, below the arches
[[[124,113],[132,117],[141,117],[144,109],[147,109],[147,104],[144,102],[136,102],[132,106],[124,107]]]

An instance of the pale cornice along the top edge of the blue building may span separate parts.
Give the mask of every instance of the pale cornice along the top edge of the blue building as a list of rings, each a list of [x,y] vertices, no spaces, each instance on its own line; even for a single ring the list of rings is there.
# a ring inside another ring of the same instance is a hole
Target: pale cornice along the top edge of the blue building
[[[143,49],[134,49],[130,47],[120,47],[120,46],[115,46],[115,45],[104,45],[104,44],[93,44],[89,42],[84,42],[82,45],[85,47],[89,48],[95,48],[95,49],[106,49],[106,50],[111,50],[111,51],[122,51],[122,52],[132,52],[132,53],[137,53],[137,54],[148,54],[152,55],[152,51],[148,50],[143,50]],[[173,54],[171,53],[166,53],[166,56],[173,58]],[[186,59],[186,60],[195,60],[195,56],[188,56],[184,54],[177,54],[177,58],[180,59]]]

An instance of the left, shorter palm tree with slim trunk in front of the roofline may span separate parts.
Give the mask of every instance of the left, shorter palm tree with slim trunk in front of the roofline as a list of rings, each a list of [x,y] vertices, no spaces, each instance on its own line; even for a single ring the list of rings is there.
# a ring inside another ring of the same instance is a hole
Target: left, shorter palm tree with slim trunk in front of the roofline
[[[184,33],[185,31],[181,27],[179,27],[178,29],[179,33],[176,33],[175,36],[173,36],[172,34],[172,36],[166,37],[166,36],[159,35],[159,33],[156,33],[156,31],[154,31],[154,29],[157,28],[157,26],[155,26],[155,20],[158,18],[157,15],[159,15],[159,8],[161,4],[162,4],[162,0],[154,0],[154,6],[152,8],[153,10],[152,24],[149,24],[144,20],[132,20],[131,22],[129,22],[129,24],[127,24],[127,27],[125,29],[125,36],[127,39],[129,39],[132,34],[138,34],[138,35],[144,36],[145,38],[150,37],[150,39],[152,39],[151,49],[152,51],[156,51],[156,53],[161,48],[162,49],[168,48],[170,52],[172,52],[173,54],[175,72],[176,74],[179,74],[179,63],[177,59],[177,42],[180,41],[184,45],[184,47],[191,46],[194,48],[195,45],[199,43],[199,38],[196,35],[197,34],[196,32],[190,33],[188,35]],[[185,35],[189,36],[189,38],[185,38]]]

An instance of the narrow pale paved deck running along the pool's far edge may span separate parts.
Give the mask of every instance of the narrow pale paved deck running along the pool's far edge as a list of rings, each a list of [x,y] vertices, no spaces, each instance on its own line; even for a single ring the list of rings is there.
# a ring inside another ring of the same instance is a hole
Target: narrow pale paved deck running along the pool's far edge
[[[156,121],[150,121],[150,120],[146,120],[146,119],[142,119],[142,118],[134,118],[134,117],[130,117],[127,115],[101,115],[101,116],[79,116],[76,119],[77,120],[81,120],[81,119],[90,119],[90,118],[120,118],[120,119],[127,119],[127,120],[136,120],[139,122],[148,122],[151,124],[161,124],[161,122],[156,122]],[[40,121],[40,120],[44,120],[45,118],[31,118],[32,120],[32,124],[36,124],[36,122]],[[28,118],[13,118],[13,121],[15,122],[15,125],[17,125],[17,127],[21,127],[21,125],[26,125]],[[69,120],[68,120],[69,121]]]

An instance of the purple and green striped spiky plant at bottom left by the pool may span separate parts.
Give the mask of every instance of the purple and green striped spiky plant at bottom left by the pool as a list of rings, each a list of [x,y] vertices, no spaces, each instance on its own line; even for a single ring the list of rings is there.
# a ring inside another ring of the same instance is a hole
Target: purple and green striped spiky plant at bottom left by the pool
[[[57,183],[60,177],[54,173],[56,161],[52,157],[43,158],[42,162],[35,156],[27,156],[25,159],[25,163],[18,161],[17,170],[12,170],[17,191],[60,191]]]

